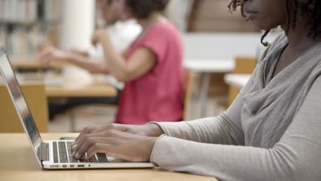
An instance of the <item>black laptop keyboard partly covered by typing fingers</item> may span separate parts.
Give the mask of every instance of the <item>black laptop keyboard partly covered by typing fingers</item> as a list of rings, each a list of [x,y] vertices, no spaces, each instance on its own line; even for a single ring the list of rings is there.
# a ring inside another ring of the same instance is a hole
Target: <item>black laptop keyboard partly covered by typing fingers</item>
[[[73,158],[71,151],[71,141],[54,141],[53,142],[53,162],[55,163],[77,163],[77,162],[108,162],[105,154],[95,154],[89,160]]]

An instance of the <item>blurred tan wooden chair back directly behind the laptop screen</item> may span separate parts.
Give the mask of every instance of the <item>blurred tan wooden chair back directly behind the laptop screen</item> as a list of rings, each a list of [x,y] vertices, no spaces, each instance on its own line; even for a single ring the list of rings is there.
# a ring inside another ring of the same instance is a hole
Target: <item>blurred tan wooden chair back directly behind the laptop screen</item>
[[[38,82],[21,84],[21,89],[39,132],[48,132],[48,108],[44,84]],[[0,97],[0,132],[24,132],[8,90],[2,83],[0,84]]]

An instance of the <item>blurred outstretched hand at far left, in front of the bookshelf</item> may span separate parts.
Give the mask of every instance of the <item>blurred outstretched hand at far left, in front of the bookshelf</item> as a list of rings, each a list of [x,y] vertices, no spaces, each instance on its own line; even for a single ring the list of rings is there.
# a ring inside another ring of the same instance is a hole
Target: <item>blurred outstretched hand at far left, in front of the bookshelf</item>
[[[51,45],[45,45],[42,47],[42,51],[38,56],[40,64],[44,67],[48,66],[52,61],[64,62],[69,58],[67,51],[62,51]]]

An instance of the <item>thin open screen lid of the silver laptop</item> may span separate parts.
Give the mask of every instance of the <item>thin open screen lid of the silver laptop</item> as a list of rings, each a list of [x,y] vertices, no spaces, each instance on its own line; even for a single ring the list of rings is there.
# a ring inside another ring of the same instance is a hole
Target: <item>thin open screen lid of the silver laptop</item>
[[[34,149],[34,153],[38,158],[38,163],[42,165],[41,147],[43,146],[43,141],[38,132],[38,128],[36,127],[36,123],[34,123],[32,114],[29,111],[29,108],[25,101],[25,97],[23,97],[23,93],[21,92],[21,88],[18,81],[16,80],[16,76],[14,75],[14,71],[12,70],[8,57],[5,55],[3,50],[0,50],[0,72],[14,104],[14,107],[16,108],[19,119],[21,120],[23,129],[25,130],[32,148]]]

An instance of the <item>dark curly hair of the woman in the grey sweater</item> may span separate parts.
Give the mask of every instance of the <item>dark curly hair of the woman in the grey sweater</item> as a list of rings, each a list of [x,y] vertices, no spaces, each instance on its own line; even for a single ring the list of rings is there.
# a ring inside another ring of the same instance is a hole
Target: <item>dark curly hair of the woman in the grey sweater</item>
[[[244,0],[247,1],[247,0]],[[286,13],[286,27],[283,27],[285,33],[289,32],[289,29],[296,28],[296,21],[301,19],[303,15],[308,17],[308,21],[305,27],[309,29],[308,37],[316,39],[321,36],[321,3],[320,0],[293,0],[292,2],[292,12],[290,12],[289,0],[283,0],[285,3],[285,13]],[[233,12],[241,7],[241,15],[245,17],[245,12],[243,10],[243,3],[240,0],[232,0],[228,5],[230,12]],[[265,36],[269,34],[270,30],[265,31],[261,38],[261,43],[268,46],[268,43],[263,42]]]

